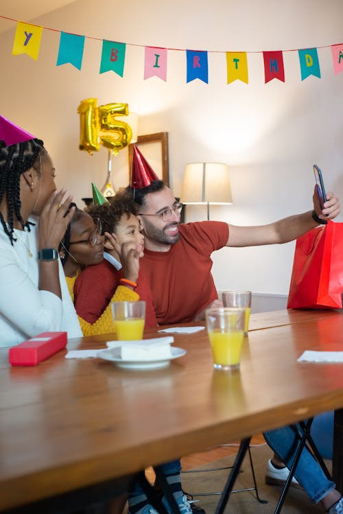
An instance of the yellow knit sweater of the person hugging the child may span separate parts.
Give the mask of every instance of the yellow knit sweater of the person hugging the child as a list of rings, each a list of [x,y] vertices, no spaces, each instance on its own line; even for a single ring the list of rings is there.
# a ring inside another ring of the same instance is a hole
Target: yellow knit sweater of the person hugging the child
[[[66,277],[67,285],[69,289],[69,293],[71,299],[74,301],[74,283],[78,278],[79,272],[75,277]],[[123,301],[138,301],[139,294],[137,292],[132,291],[130,288],[126,288],[125,285],[118,285],[115,290],[115,294],[113,294],[111,302],[123,302]],[[110,307],[110,303],[108,303],[106,309],[102,313],[102,315],[95,321],[95,323],[88,323],[83,318],[79,318],[80,326],[84,336],[97,336],[99,334],[113,334],[115,332],[115,324],[113,323],[112,311]]]

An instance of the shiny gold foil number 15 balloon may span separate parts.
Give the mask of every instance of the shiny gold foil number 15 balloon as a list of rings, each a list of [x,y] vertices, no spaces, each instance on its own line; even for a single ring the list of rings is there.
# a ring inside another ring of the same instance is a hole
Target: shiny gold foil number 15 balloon
[[[100,144],[117,154],[130,143],[132,130],[117,116],[128,116],[128,104],[106,104],[97,106],[96,98],[82,100],[78,106],[80,114],[80,150],[98,152]]]

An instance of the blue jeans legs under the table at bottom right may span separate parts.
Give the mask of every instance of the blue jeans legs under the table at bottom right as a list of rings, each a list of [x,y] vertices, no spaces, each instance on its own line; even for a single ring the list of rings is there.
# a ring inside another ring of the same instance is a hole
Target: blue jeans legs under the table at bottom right
[[[287,467],[291,467],[294,460],[297,430],[300,432],[298,425],[292,425],[263,434],[265,441]],[[306,447],[301,452],[294,476],[303,486],[312,503],[320,502],[330,491],[335,489],[335,484],[327,479],[322,468]]]

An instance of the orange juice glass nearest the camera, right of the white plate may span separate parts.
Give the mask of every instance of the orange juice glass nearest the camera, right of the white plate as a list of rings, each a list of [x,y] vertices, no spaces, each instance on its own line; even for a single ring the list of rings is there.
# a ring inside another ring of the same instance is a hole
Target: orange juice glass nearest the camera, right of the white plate
[[[219,307],[206,310],[206,326],[215,369],[239,369],[245,320],[246,309]]]

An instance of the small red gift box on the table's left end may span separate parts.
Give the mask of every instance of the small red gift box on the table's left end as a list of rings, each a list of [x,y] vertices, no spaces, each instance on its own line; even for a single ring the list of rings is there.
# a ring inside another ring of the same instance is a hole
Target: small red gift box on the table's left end
[[[67,332],[42,332],[10,348],[12,366],[36,366],[67,346]]]

